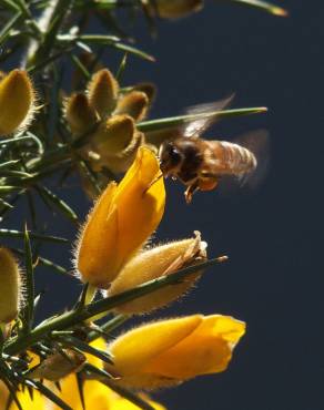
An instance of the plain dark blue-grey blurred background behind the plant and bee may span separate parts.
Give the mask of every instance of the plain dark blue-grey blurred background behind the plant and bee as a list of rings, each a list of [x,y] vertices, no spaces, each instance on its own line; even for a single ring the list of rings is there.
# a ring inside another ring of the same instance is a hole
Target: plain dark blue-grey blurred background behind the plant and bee
[[[290,10],[288,19],[206,0],[195,16],[160,21],[156,40],[143,21],[135,28],[139,44],[158,62],[131,58],[124,85],[143,80],[158,85],[151,117],[176,115],[233,91],[233,107],[269,107],[267,114],[223,121],[205,134],[231,140],[269,130],[270,170],[255,192],[201,193],[188,206],[183,186],[168,182],[156,240],[198,229],[209,243],[209,256],[226,254],[230,262],[209,269],[193,293],[159,317],[216,312],[247,322],[226,372],[154,394],[171,410],[324,408],[324,4],[276,2]],[[120,59],[107,57],[107,65],[115,70]],[[77,188],[73,195],[84,216],[90,202]],[[54,226],[73,240],[73,226],[60,217]],[[69,264],[60,245],[47,255]],[[42,316],[73,303],[75,283],[50,270],[38,275],[39,289],[49,294]]]

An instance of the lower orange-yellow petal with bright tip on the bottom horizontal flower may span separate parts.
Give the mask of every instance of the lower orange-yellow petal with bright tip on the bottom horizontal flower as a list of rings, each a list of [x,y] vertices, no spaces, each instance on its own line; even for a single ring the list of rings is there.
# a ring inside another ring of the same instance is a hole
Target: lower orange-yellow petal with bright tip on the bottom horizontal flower
[[[186,338],[156,356],[144,371],[185,380],[226,369],[245,324],[229,316],[206,316]]]

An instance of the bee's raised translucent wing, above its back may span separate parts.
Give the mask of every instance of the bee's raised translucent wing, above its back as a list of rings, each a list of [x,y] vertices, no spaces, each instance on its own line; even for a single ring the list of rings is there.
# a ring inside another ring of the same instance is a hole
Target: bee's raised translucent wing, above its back
[[[235,94],[231,94],[230,96],[219,100],[212,103],[206,104],[199,104],[194,106],[188,107],[184,112],[186,115],[200,115],[201,117],[198,117],[195,120],[192,120],[184,124],[183,129],[181,130],[181,134],[185,137],[194,139],[199,137],[203,134],[203,132],[211,126],[211,124],[214,124],[217,121],[217,115],[213,113],[217,111],[224,110],[226,106],[230,105],[230,103],[233,101]],[[211,115],[207,115],[207,114]],[[204,116],[203,114],[206,114]]]

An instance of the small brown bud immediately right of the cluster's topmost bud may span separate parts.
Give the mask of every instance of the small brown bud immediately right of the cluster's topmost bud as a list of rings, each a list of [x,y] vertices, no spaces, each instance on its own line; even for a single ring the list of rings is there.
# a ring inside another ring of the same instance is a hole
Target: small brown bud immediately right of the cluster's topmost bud
[[[142,91],[131,91],[119,100],[115,113],[129,114],[135,121],[141,121],[145,117],[148,109],[148,95]]]

